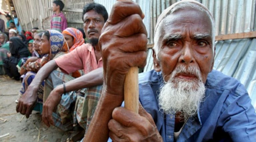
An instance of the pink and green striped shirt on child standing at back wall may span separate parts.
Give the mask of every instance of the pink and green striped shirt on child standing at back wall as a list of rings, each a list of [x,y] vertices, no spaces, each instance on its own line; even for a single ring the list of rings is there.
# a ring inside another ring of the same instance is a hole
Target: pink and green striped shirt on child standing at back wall
[[[61,12],[60,14],[54,14],[51,20],[51,29],[57,30],[62,33],[68,27],[67,19],[64,14]]]

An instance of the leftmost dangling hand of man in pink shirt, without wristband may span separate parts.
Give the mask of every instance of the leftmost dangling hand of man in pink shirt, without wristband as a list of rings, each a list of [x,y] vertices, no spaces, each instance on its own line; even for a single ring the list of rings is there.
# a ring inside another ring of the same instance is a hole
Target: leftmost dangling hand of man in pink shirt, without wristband
[[[26,114],[27,118],[29,117],[37,99],[37,90],[37,88],[33,88],[31,86],[27,88],[26,92],[19,99],[19,102],[16,106],[17,112],[20,112],[23,115]]]

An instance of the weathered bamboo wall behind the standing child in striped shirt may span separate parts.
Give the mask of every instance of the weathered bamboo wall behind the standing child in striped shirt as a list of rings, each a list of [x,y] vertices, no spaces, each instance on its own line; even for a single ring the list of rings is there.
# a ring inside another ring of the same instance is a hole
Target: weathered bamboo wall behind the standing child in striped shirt
[[[53,0],[12,0],[23,30],[50,29]],[[63,0],[68,27],[82,28],[82,9],[93,0]]]

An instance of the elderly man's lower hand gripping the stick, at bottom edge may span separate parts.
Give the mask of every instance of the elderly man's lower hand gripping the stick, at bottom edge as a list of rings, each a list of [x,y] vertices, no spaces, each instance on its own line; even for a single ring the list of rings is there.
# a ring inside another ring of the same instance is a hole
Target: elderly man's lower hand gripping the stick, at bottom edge
[[[153,118],[139,105],[139,114],[117,107],[108,123],[109,136],[115,142],[162,142]]]

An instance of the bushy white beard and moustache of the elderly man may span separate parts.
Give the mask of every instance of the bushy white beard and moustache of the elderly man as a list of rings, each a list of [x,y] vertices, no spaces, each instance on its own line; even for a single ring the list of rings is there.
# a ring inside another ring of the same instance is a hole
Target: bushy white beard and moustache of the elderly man
[[[196,75],[197,79],[184,80],[175,77],[178,73]],[[196,67],[177,66],[171,77],[160,89],[159,106],[167,114],[181,112],[180,118],[186,120],[195,115],[204,100],[205,86],[200,71]]]

